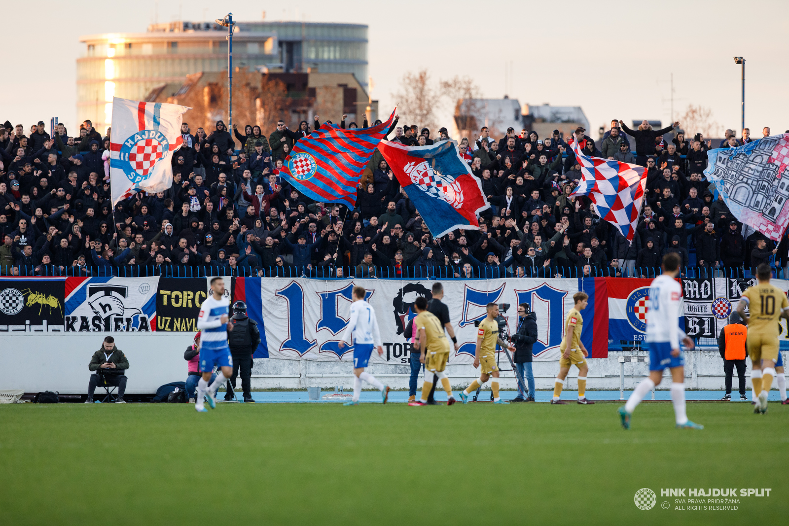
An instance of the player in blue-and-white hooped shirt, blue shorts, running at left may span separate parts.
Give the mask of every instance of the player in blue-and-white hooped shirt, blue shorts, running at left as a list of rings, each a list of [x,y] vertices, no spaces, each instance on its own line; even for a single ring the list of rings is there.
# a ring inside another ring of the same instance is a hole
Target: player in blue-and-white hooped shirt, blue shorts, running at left
[[[230,302],[223,296],[225,293],[225,280],[223,278],[211,279],[211,296],[200,305],[200,315],[197,316],[197,328],[200,334],[200,372],[202,378],[197,382],[197,401],[195,409],[206,412],[208,409],[203,404],[203,398],[208,398],[208,405],[216,407],[216,391],[226,385],[227,379],[233,374],[233,356],[227,345],[227,319]],[[214,366],[222,369],[222,374],[216,375],[211,385],[211,371]]]

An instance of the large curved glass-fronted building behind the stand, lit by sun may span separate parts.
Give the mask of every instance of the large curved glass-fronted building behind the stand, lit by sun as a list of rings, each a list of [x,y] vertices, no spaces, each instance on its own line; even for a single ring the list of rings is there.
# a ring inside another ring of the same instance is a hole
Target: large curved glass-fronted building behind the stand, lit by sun
[[[226,36],[226,28],[214,22],[178,21],[151,24],[144,33],[80,37],[85,48],[77,59],[78,121],[90,119],[104,131],[111,124],[113,96],[143,100],[163,84],[180,87],[187,75],[221,73],[214,80],[226,84]],[[351,73],[367,88],[366,25],[237,22],[233,43],[239,69]]]

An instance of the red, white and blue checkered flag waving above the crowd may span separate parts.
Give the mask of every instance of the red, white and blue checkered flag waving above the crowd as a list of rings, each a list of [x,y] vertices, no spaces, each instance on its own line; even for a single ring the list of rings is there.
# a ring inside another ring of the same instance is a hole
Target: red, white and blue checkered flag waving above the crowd
[[[638,215],[644,200],[646,169],[627,162],[586,157],[581,154],[585,140],[578,144],[570,139],[575,159],[581,165],[581,181],[571,196],[589,196],[605,221],[619,229],[627,241],[633,242],[638,226]]]

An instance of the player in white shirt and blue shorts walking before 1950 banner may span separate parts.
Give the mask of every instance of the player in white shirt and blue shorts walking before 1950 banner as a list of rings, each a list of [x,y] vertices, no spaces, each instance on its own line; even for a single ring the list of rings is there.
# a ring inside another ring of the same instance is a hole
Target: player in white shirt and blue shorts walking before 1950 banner
[[[374,347],[378,347],[378,356],[383,356],[383,343],[381,342],[381,332],[378,329],[376,311],[373,311],[372,305],[365,301],[363,287],[353,287],[351,297],[353,303],[350,304],[350,320],[346,330],[342,333],[342,339],[338,346],[342,349],[353,336],[353,399],[343,405],[359,405],[362,380],[380,390],[383,403],[386,404],[389,397],[389,386],[365,372]]]

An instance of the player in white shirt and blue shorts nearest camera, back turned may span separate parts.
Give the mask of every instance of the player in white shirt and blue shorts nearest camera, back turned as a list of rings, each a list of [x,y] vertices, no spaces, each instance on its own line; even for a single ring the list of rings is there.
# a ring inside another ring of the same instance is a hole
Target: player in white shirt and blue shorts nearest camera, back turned
[[[674,404],[676,425],[681,429],[704,429],[688,420],[685,411],[685,357],[679,341],[688,349],[694,341],[679,328],[680,300],[682,289],[676,280],[679,274],[679,256],[669,252],[663,256],[663,274],[649,284],[649,308],[646,312],[646,346],[649,349],[649,378],[636,386],[619,408],[622,427],[630,429],[630,416],[649,391],[663,379],[666,367],[671,371],[671,402]]]

